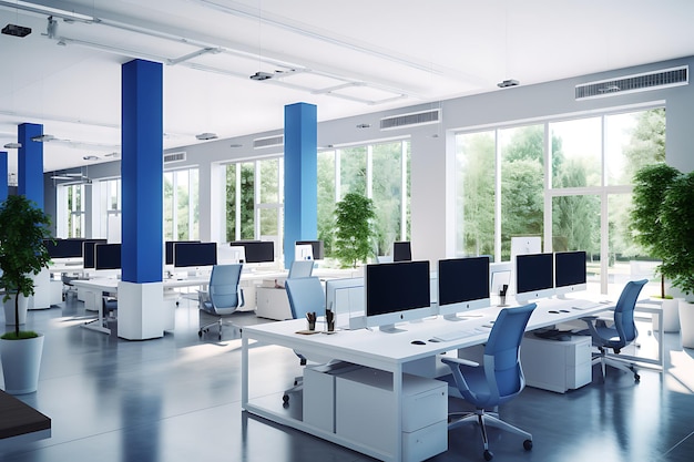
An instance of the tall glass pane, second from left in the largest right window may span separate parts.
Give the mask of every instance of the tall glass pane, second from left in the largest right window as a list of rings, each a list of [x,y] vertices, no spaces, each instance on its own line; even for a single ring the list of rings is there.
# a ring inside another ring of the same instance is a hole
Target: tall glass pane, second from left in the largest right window
[[[542,125],[499,131],[502,260],[511,257],[511,237],[543,235],[543,138]]]

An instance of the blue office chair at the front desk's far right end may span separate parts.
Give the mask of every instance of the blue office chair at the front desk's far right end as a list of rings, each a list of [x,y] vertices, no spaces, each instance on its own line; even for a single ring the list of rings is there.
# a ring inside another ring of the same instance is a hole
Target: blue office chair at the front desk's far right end
[[[633,363],[623,362],[621,359],[608,357],[608,349],[612,349],[614,355],[619,355],[622,348],[632,343],[639,336],[636,324],[634,322],[634,308],[639,294],[647,279],[630,280],[624,286],[620,299],[614,308],[614,324],[608,327],[603,319],[598,316],[586,316],[581,318],[588,324],[588,330],[582,330],[581,335],[590,335],[593,339],[593,347],[598,347],[599,353],[593,358],[593,365],[600,363],[602,369],[602,380],[605,380],[605,367],[612,366],[634,374],[634,380],[639,382],[641,376],[636,372]]]

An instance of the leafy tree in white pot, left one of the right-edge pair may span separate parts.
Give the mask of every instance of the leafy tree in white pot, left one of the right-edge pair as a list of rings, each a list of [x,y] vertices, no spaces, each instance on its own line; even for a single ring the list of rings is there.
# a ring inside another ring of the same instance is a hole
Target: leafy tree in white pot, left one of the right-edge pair
[[[666,247],[665,220],[663,219],[663,203],[673,182],[682,173],[665,163],[646,165],[634,175],[634,189],[632,194],[631,229],[634,232],[634,240],[649,255],[665,260],[669,255]],[[665,275],[663,265],[656,267],[656,274],[661,275],[661,292],[653,296],[661,304],[663,310],[664,332],[680,330],[678,300],[665,292]],[[660,330],[657,317],[653,318],[653,330]]]

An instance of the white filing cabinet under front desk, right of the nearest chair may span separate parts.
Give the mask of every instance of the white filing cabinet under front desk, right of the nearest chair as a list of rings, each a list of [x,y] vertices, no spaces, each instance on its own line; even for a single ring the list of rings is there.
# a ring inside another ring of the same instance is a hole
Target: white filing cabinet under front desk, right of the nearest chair
[[[591,338],[571,336],[569,341],[527,333],[521,343],[521,363],[529,387],[563,393],[592,380]]]

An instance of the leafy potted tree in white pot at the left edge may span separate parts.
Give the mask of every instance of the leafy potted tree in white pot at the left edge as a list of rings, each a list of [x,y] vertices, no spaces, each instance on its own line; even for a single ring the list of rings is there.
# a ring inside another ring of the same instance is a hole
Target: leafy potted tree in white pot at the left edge
[[[0,205],[0,285],[3,301],[13,301],[13,329],[0,337],[2,373],[8,393],[37,390],[43,336],[20,330],[20,299],[34,292],[32,275],[48,267],[43,239],[50,236],[50,217],[23,195],[11,195]]]

